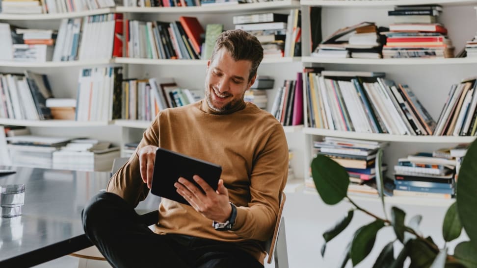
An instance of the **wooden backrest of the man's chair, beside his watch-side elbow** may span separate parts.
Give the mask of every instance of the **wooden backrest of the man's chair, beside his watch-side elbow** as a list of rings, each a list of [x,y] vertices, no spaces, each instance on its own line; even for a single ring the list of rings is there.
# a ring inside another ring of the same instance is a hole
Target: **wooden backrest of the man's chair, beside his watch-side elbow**
[[[277,222],[273,236],[265,242],[265,250],[268,253],[267,263],[270,264],[272,258],[275,259],[275,267],[288,268],[288,253],[285,237],[285,221],[282,217],[283,207],[287,196],[282,193],[280,198],[280,206],[278,207]]]

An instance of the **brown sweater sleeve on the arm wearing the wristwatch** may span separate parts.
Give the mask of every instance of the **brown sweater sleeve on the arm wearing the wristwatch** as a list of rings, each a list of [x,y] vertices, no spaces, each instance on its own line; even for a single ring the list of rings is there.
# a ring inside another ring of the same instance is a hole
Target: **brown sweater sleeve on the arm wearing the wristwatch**
[[[279,197],[288,176],[288,145],[280,124],[276,124],[259,153],[250,178],[250,203],[237,208],[233,231],[242,238],[266,241],[277,220]]]

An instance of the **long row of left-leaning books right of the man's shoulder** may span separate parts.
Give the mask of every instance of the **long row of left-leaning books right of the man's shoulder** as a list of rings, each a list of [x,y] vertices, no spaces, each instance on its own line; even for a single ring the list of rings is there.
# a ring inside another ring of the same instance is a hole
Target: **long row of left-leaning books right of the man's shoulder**
[[[308,125],[365,133],[432,135],[435,122],[412,90],[384,79],[384,75],[304,73]]]

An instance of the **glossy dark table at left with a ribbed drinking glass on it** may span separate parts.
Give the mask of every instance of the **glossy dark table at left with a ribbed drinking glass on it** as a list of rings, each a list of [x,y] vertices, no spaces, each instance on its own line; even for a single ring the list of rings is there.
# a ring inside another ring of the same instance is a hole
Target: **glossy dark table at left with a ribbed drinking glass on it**
[[[22,216],[0,218],[0,267],[30,267],[91,246],[81,211],[106,188],[110,173],[15,169],[0,175],[0,184],[25,184],[25,205]],[[157,210],[154,197],[142,202],[141,212]]]

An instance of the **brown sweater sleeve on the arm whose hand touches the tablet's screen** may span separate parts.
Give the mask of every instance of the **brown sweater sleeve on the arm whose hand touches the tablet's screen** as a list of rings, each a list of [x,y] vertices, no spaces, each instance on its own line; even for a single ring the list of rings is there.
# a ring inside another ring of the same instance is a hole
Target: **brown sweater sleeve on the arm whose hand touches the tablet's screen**
[[[159,115],[160,113],[144,132],[142,140],[131,158],[111,177],[106,187],[106,192],[121,196],[133,207],[144,200],[149,192],[147,184],[141,178],[137,152],[147,145],[159,145]]]

